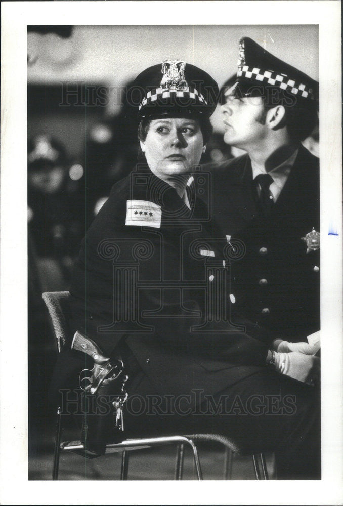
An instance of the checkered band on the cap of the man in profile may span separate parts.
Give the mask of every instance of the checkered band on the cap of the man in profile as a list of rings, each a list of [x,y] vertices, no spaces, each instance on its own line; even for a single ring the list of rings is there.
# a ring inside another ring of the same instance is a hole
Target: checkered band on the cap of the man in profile
[[[267,85],[278,86],[282,90],[290,88],[291,93],[294,95],[314,100],[311,88],[301,82],[290,79],[287,75],[278,74],[277,72],[243,65],[242,69],[238,70],[237,77],[245,77],[246,79],[252,79]]]

